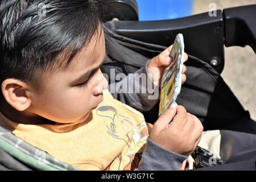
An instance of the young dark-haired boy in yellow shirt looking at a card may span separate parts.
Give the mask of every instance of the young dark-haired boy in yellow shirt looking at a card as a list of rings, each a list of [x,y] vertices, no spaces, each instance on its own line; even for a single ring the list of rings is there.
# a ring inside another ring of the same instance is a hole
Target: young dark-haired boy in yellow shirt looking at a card
[[[85,170],[179,169],[199,143],[203,126],[174,103],[149,135],[143,115],[106,90],[100,71],[102,4],[1,1],[0,125]],[[170,49],[138,72],[161,76],[171,63]],[[152,82],[159,85],[160,78]],[[154,104],[147,101],[147,107]]]

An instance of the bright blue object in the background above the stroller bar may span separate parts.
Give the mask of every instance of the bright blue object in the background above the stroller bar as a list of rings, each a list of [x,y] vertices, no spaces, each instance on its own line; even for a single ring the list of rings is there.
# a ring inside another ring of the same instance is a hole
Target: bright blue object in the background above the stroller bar
[[[193,0],[137,0],[139,20],[174,19],[192,14]]]

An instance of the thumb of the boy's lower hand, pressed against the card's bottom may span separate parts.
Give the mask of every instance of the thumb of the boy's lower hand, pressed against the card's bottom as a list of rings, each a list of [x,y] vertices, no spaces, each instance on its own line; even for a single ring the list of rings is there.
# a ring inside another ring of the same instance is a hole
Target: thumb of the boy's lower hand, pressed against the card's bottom
[[[176,111],[177,104],[176,102],[173,102],[171,106],[168,109],[166,109],[162,115],[160,115],[158,121],[155,122],[154,127],[156,127],[156,130],[163,130],[164,127],[166,127],[175,117]]]

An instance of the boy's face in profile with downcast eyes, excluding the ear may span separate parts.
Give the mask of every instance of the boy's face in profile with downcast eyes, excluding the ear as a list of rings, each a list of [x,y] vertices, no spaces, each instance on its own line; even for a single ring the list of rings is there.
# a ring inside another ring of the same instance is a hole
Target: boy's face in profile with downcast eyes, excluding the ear
[[[102,32],[74,57],[68,68],[46,73],[43,90],[31,94],[30,112],[59,123],[85,121],[90,111],[102,102],[102,90],[108,86],[99,69],[104,57]]]

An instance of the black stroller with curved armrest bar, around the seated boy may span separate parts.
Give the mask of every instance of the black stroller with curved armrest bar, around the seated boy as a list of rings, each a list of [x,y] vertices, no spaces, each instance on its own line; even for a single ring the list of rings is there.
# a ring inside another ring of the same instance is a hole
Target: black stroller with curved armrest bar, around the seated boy
[[[250,118],[249,112],[243,109],[220,76],[224,69],[224,43],[227,47],[249,45],[256,52],[256,24],[253,19],[256,16],[256,5],[225,9],[223,12],[218,10],[213,17],[203,13],[172,20],[138,22],[136,1],[111,3],[112,6],[105,9],[107,56],[102,72],[110,75],[109,70],[114,68],[116,73],[134,73],[151,57],[170,46],[176,34],[182,33],[185,51],[189,53],[189,60],[185,63],[188,79],[181,88],[177,103],[196,115],[203,122],[204,130],[256,134],[256,122]],[[241,34],[245,36],[241,37]],[[109,78],[110,83],[118,81],[111,76]],[[143,111],[147,122],[156,121],[158,106],[156,104],[151,110]],[[228,149],[236,152],[231,142],[235,137],[230,136],[221,143],[225,149],[222,150],[222,156],[225,156],[224,160],[228,160],[229,164],[201,169],[255,170],[255,151],[247,152],[249,155],[242,160],[230,158],[230,152],[224,154]],[[0,155],[0,169],[79,170],[15,137],[1,126]]]

